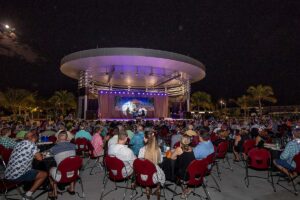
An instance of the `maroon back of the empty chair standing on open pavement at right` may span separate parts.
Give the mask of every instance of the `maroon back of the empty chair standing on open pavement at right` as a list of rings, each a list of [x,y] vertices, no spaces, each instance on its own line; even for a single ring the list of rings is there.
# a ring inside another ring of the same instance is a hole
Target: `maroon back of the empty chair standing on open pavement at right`
[[[254,169],[266,170],[271,166],[271,154],[267,149],[254,148],[248,152],[248,166]]]

